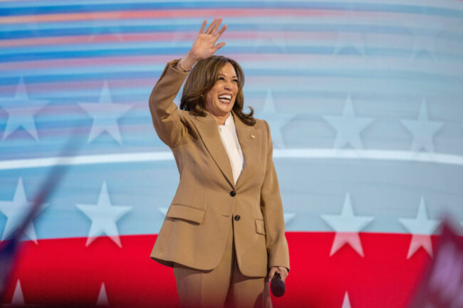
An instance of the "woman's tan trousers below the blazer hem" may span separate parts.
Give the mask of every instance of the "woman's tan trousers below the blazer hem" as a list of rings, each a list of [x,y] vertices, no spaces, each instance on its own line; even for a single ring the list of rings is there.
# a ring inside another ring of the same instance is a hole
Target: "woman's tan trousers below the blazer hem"
[[[239,271],[233,227],[230,228],[222,260],[214,270],[194,270],[176,264],[174,275],[182,308],[271,307],[266,279],[246,277]]]

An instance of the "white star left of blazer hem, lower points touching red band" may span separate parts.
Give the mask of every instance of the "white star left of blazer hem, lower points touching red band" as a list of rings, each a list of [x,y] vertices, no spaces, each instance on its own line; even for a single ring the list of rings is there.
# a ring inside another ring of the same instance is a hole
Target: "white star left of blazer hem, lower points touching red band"
[[[132,206],[112,206],[106,182],[103,182],[96,205],[76,204],[80,211],[90,218],[92,225],[88,233],[86,246],[100,235],[108,235],[114,243],[122,247],[116,221],[132,209]]]

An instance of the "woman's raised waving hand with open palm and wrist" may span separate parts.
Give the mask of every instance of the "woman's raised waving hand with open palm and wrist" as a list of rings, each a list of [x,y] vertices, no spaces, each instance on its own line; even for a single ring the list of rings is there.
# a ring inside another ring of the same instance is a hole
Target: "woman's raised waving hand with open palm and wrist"
[[[214,18],[206,29],[207,20],[203,21],[201,29],[194,39],[192,48],[181,59],[180,68],[189,70],[198,60],[209,58],[220,48],[225,46],[224,42],[216,44],[222,33],[227,29],[227,25],[224,25],[219,30],[221,23],[222,18]],[[206,30],[204,31],[204,29]]]

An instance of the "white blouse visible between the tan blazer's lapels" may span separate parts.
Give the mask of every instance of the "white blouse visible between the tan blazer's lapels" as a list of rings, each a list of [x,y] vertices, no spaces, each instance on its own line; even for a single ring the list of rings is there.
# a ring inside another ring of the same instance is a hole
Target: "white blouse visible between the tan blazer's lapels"
[[[236,127],[233,120],[233,115],[230,113],[224,125],[219,125],[219,133],[224,144],[225,151],[230,159],[231,171],[233,171],[233,179],[236,184],[241,171],[244,167],[244,156],[239,145],[238,135],[236,134]]]

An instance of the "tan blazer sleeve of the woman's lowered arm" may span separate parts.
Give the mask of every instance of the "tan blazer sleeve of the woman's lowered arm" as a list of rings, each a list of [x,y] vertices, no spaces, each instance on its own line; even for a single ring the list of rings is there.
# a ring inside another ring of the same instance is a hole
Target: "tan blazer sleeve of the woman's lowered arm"
[[[274,166],[270,127],[266,121],[264,122],[269,139],[267,143],[269,149],[266,157],[266,174],[261,187],[261,210],[265,219],[269,267],[283,266],[289,271],[289,250],[284,231],[283,204]]]

